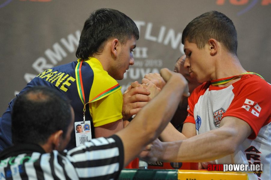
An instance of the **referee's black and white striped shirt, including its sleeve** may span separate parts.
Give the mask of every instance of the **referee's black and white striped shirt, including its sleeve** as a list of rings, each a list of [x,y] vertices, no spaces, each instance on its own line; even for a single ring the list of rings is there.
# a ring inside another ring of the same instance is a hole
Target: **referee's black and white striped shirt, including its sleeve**
[[[123,144],[116,135],[93,139],[67,153],[45,153],[38,145],[23,144],[0,154],[0,180],[116,179],[123,161]]]

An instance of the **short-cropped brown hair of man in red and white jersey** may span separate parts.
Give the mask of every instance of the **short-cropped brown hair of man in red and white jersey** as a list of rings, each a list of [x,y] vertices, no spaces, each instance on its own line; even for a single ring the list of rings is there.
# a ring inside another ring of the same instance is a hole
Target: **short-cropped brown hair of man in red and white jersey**
[[[209,11],[193,19],[185,27],[181,42],[187,40],[203,49],[210,38],[216,39],[229,52],[237,55],[237,32],[233,22],[223,13]]]

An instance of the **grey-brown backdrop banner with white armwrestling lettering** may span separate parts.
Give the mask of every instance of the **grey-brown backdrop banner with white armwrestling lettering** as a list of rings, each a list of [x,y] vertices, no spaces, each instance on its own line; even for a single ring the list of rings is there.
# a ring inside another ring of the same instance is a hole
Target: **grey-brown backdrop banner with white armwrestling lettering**
[[[75,61],[84,21],[101,7],[120,10],[140,31],[135,64],[119,81],[124,91],[146,73],[173,70],[188,22],[210,10],[236,26],[242,66],[271,82],[271,0],[0,0],[0,116],[40,72]]]

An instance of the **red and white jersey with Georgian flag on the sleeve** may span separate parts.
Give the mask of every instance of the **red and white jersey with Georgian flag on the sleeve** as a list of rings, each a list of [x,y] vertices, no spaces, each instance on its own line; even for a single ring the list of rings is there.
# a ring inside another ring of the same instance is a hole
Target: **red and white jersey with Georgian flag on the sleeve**
[[[188,98],[185,122],[196,125],[196,134],[219,128],[221,120],[233,116],[247,122],[253,133],[235,153],[208,164],[263,164],[263,173],[248,173],[249,179],[271,177],[271,85],[257,75],[243,75],[228,87],[205,82]],[[215,147],[214,147],[215,148]]]

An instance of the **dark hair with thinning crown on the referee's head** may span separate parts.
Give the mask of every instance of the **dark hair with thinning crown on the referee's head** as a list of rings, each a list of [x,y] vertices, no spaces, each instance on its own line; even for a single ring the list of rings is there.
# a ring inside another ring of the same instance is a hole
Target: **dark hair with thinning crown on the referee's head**
[[[44,144],[58,130],[65,137],[71,120],[71,105],[63,94],[53,88],[34,86],[15,100],[12,141]]]

